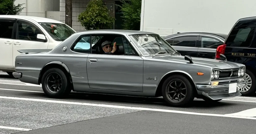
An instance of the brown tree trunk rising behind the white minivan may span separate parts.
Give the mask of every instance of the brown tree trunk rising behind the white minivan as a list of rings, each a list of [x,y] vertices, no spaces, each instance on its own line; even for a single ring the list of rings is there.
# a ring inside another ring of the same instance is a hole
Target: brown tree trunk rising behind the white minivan
[[[72,0],[66,0],[65,1],[65,23],[72,28]]]

